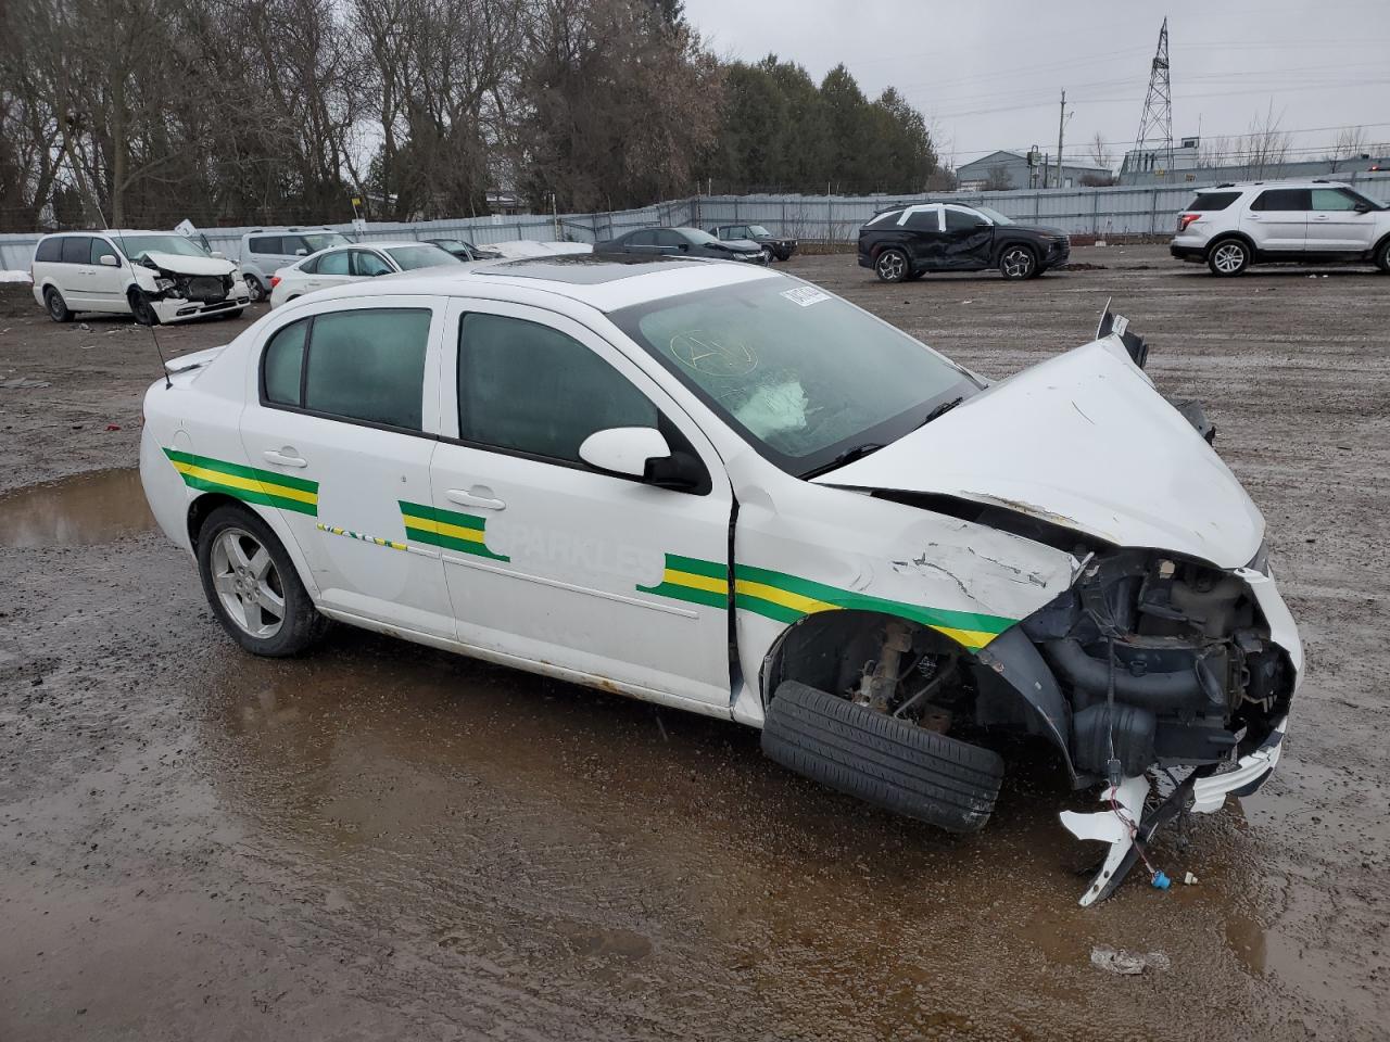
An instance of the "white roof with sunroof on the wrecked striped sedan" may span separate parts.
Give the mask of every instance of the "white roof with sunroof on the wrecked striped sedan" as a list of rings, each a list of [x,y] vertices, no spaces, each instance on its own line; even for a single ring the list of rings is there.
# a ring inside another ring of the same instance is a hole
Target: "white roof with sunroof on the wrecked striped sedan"
[[[477,292],[480,296],[495,297],[505,296],[507,288],[514,288],[552,293],[606,313],[716,286],[785,278],[764,267],[737,261],[699,257],[628,260],[585,253],[423,268],[374,279],[371,289],[374,293],[427,296],[464,296]],[[320,290],[314,299],[360,297],[361,293],[360,283],[349,283]]]

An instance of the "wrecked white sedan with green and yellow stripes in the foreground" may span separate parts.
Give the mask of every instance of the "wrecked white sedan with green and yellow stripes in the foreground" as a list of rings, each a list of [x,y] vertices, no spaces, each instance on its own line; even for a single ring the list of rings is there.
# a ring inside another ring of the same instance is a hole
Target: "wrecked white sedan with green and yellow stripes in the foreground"
[[[140,471],[259,654],[338,620],[733,718],[959,832],[1040,736],[1105,802],[1063,816],[1109,843],[1090,903],[1268,777],[1302,660],[1259,511],[1144,350],[1106,314],[990,382],[766,268],[436,270],[170,363]]]

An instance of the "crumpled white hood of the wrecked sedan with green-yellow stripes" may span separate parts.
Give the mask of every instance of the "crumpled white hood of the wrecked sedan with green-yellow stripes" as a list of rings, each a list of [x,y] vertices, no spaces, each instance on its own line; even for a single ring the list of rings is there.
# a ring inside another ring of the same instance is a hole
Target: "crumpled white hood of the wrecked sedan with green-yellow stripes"
[[[1116,338],[1001,381],[815,481],[958,496],[1222,568],[1250,563],[1265,532],[1236,477]]]

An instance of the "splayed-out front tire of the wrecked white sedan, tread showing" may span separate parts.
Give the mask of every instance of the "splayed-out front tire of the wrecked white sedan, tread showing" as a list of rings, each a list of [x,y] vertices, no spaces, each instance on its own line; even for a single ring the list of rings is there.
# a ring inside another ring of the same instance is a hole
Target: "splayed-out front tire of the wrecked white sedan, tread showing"
[[[951,832],[984,827],[1004,778],[992,750],[795,681],[777,689],[762,747],[821,785]]]

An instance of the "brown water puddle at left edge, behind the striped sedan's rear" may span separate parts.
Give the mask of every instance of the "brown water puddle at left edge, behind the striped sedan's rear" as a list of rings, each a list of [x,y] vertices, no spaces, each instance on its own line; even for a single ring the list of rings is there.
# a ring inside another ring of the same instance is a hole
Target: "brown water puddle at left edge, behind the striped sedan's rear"
[[[135,467],[78,474],[0,495],[0,546],[92,546],[154,527]]]

